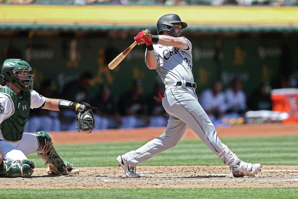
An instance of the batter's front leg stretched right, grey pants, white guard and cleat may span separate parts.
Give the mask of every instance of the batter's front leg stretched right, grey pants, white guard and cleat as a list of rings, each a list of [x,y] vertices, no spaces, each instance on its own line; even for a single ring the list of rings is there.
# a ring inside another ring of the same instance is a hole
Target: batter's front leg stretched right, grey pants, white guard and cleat
[[[175,98],[176,103],[172,109],[176,117],[184,121],[199,136],[199,138],[218,155],[221,160],[230,167],[235,177],[243,175],[253,176],[260,171],[260,164],[251,164],[241,161],[217,136],[214,125],[210,121],[204,109],[190,94],[181,95],[181,90],[170,89],[167,98]],[[188,99],[188,100],[185,100]],[[237,173],[238,172],[238,173]]]

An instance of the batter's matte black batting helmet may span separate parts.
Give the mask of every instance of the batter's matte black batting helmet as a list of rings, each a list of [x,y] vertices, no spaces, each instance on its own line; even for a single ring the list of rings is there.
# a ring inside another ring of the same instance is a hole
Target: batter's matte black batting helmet
[[[186,28],[187,23],[182,22],[181,18],[176,14],[166,14],[157,21],[157,33],[160,35],[162,31],[170,33],[175,29],[173,23],[181,23],[181,28]],[[169,27],[169,28],[168,28]]]

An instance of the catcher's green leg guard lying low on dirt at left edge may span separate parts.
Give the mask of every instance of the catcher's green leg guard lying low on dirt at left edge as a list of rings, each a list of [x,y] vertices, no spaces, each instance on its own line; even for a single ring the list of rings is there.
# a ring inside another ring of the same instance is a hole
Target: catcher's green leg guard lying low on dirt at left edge
[[[34,163],[30,160],[22,160],[17,163],[12,163],[8,160],[3,160],[0,165],[0,176],[6,178],[29,178],[33,174],[35,168]]]

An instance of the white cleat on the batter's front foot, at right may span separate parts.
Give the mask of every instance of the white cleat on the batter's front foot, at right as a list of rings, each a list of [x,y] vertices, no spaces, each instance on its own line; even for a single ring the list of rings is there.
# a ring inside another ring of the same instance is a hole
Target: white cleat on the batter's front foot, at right
[[[235,178],[241,178],[245,175],[254,176],[259,171],[261,171],[261,167],[262,166],[259,163],[252,164],[252,163],[240,161],[240,164],[238,166],[238,171],[232,172],[232,173]]]

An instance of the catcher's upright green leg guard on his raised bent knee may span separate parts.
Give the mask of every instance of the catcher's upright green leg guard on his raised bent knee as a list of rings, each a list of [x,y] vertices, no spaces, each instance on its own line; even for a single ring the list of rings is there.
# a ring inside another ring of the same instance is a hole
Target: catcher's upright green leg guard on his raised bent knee
[[[64,172],[64,161],[57,154],[49,133],[45,131],[39,131],[35,134],[37,136],[39,145],[37,150],[38,156],[52,167],[55,167],[58,172]]]

